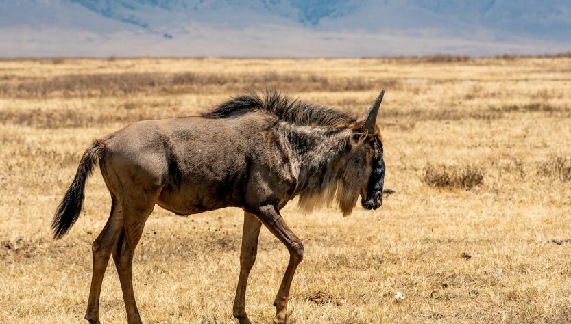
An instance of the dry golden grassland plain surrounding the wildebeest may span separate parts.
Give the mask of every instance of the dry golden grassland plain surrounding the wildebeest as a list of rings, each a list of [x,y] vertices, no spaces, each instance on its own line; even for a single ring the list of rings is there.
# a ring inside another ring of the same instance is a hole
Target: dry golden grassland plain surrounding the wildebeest
[[[571,58],[504,57],[1,61],[0,323],[82,321],[110,208],[98,172],[71,233],[53,241],[49,223],[90,141],[265,87],[359,115],[387,87],[382,208],[284,208],[306,250],[290,323],[571,322]],[[233,323],[242,220],[155,208],[134,261],[143,321]],[[263,230],[255,323],[287,258]],[[101,320],[126,320],[112,264]]]

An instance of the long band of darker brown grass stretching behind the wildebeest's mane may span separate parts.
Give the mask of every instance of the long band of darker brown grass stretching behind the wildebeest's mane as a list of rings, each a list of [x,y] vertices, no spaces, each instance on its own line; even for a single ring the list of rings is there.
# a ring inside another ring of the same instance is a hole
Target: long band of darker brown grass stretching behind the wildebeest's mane
[[[59,63],[63,64],[63,62]],[[53,78],[33,78],[0,85],[0,97],[71,98],[128,96],[138,93],[184,94],[239,92],[250,89],[284,88],[289,91],[358,91],[376,89],[385,84],[396,87],[396,81],[380,78],[330,79],[312,73],[265,72],[248,73],[157,73],[125,72],[70,74]]]

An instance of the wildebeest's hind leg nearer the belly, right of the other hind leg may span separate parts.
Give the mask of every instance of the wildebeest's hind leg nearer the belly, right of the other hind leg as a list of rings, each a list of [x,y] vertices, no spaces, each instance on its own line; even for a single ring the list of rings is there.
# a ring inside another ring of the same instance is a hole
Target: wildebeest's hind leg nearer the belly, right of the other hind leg
[[[112,252],[123,291],[127,322],[130,324],[142,323],[133,291],[133,255],[159,192],[160,190],[142,193],[138,197],[132,197],[123,202],[123,231]]]

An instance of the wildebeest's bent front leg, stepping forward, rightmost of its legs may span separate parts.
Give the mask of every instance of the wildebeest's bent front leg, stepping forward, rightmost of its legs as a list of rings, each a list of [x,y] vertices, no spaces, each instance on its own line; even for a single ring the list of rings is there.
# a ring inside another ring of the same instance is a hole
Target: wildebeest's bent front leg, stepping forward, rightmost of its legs
[[[276,317],[274,318],[274,323],[285,323],[289,287],[291,286],[291,281],[293,280],[293,275],[295,274],[297,265],[302,262],[304,247],[302,241],[293,234],[287,224],[285,224],[284,219],[280,215],[280,211],[278,211],[276,206],[270,205],[260,207],[259,212],[256,215],[258,215],[260,221],[263,222],[269,231],[284,243],[289,251],[289,263],[287,265],[282,284],[280,284],[278,295],[276,295],[276,299],[274,301],[274,306],[276,306]]]

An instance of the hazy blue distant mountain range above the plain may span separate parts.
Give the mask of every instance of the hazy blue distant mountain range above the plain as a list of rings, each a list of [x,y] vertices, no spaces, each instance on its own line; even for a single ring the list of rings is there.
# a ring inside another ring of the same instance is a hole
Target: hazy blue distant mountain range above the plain
[[[568,0],[0,0],[0,56],[571,51]]]

